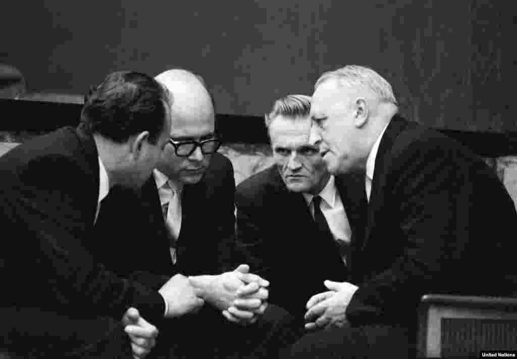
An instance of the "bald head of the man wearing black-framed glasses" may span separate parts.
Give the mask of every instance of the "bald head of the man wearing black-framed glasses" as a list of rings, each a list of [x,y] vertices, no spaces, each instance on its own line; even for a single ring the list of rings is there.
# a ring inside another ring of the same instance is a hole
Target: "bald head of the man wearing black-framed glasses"
[[[203,80],[183,69],[164,71],[156,76],[172,94],[171,139],[175,143],[203,141],[215,136],[215,111]],[[206,151],[205,151],[206,152]],[[211,154],[200,147],[188,156],[180,156],[172,145],[165,147],[157,168],[169,179],[196,183],[203,177]]]

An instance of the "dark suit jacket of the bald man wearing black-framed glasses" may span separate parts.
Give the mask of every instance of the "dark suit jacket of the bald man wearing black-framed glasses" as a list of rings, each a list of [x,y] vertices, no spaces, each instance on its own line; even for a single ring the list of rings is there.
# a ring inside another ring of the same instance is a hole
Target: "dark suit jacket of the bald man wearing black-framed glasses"
[[[184,186],[177,263],[170,242],[154,176],[138,191],[114,189],[102,201],[91,242],[93,255],[120,275],[159,289],[176,273],[219,274],[230,268],[235,245],[235,179],[230,160],[214,153],[202,180]]]

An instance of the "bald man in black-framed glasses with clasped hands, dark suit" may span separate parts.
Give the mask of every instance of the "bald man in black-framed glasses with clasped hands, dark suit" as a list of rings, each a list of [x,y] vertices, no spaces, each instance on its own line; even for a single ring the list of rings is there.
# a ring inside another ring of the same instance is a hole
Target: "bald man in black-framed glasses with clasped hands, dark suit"
[[[156,355],[269,357],[269,350],[288,345],[282,323],[290,317],[267,306],[268,282],[248,266],[230,270],[235,180],[230,160],[216,152],[213,101],[190,71],[168,70],[156,78],[174,97],[169,143],[142,189],[119,189],[107,198],[97,230],[113,240],[93,243],[90,251],[150,288],[179,272],[203,293],[207,305],[200,312],[172,325],[153,323],[161,333]],[[127,245],[133,241],[141,244]],[[239,288],[248,294],[238,297]],[[222,340],[220,333],[235,340]]]

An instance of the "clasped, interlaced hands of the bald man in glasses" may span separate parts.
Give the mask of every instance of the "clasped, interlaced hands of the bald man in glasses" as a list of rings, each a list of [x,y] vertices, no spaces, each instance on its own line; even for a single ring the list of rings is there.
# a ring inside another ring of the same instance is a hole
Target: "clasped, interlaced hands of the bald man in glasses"
[[[189,280],[192,286],[203,290],[205,301],[221,310],[231,322],[254,323],[267,307],[269,282],[249,273],[246,264],[218,276],[196,276]]]

